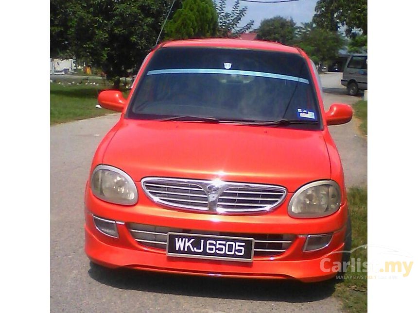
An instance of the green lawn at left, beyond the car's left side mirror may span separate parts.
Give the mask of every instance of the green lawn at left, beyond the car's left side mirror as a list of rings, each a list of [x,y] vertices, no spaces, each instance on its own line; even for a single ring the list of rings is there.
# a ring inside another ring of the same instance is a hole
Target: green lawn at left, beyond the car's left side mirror
[[[115,113],[96,108],[99,92],[106,89],[103,84],[73,85],[63,82],[62,84],[51,83],[50,86],[51,125]],[[125,97],[127,93],[124,92]]]

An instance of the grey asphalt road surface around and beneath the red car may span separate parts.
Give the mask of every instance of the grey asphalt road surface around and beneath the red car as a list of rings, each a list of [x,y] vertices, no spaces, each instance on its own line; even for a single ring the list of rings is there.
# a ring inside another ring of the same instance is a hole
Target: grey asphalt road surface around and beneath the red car
[[[331,102],[357,100],[324,94]],[[94,150],[118,119],[51,127],[52,312],[341,312],[334,284],[226,280],[92,266],[84,254],[83,193]],[[355,123],[333,126],[348,185],[366,183],[366,140]]]

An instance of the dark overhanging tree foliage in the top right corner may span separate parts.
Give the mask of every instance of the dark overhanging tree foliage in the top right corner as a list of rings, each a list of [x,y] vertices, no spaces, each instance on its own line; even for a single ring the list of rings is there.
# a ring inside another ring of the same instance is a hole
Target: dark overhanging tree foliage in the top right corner
[[[346,35],[354,30],[367,35],[367,0],[319,0],[313,22],[319,28],[337,31],[346,26]]]

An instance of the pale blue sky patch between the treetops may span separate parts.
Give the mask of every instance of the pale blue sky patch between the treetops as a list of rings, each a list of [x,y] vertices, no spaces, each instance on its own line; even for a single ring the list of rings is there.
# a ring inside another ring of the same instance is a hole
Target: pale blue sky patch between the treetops
[[[268,0],[260,0],[268,1]],[[245,25],[251,19],[254,20],[253,28],[260,26],[261,20],[274,16],[292,17],[297,26],[300,23],[310,22],[315,13],[315,5],[317,0],[300,0],[294,2],[283,3],[251,3],[241,1],[241,8],[248,7],[247,13],[241,20],[240,26]],[[231,11],[235,0],[226,0],[226,10]]]

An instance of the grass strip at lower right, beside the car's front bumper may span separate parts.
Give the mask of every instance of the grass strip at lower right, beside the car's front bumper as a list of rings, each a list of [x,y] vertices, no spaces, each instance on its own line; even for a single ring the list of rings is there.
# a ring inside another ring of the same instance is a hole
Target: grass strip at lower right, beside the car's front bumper
[[[367,189],[353,187],[348,190],[348,205],[351,214],[352,246],[367,243]],[[367,261],[367,249],[360,248],[351,253],[351,259]],[[349,277],[355,278],[349,278]],[[348,268],[346,279],[335,285],[335,295],[343,300],[348,312],[367,312],[367,273]]]

